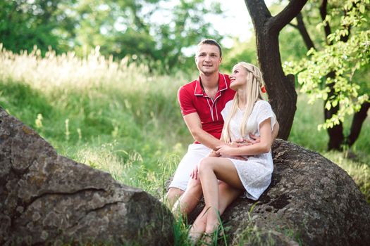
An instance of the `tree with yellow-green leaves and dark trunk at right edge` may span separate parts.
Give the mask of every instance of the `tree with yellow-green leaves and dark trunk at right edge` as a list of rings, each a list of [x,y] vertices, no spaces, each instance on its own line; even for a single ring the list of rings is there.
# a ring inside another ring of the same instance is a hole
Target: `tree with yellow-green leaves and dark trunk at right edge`
[[[309,103],[324,101],[325,122],[319,129],[328,130],[329,149],[356,141],[369,108],[369,3],[311,1],[292,24],[309,51],[293,63],[292,70],[285,64],[285,70],[297,75],[300,90],[310,96]],[[342,124],[349,115],[354,115],[352,127],[344,136]]]

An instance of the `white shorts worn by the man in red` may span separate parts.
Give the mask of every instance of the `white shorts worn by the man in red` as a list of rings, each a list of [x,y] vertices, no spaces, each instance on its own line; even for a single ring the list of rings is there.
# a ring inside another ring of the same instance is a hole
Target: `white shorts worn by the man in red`
[[[195,165],[211,152],[211,149],[202,144],[190,144],[187,153],[178,164],[173,180],[168,188],[174,187],[186,190],[187,182],[190,179],[190,172]]]

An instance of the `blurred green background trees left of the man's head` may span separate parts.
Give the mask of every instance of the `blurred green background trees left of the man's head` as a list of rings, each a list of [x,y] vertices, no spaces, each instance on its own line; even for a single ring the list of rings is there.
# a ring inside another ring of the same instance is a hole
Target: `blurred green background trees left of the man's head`
[[[184,48],[222,39],[206,22],[221,6],[203,0],[11,0],[0,9],[0,42],[14,52],[37,46],[43,54],[51,48],[86,56],[99,46],[104,56],[170,72],[189,67]]]

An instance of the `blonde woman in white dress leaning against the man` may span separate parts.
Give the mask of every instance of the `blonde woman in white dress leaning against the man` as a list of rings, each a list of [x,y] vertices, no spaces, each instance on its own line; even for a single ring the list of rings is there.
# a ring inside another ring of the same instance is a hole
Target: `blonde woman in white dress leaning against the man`
[[[244,197],[257,200],[271,183],[271,132],[276,116],[262,97],[266,91],[261,72],[249,63],[238,63],[233,67],[230,81],[230,88],[237,93],[221,112],[225,121],[222,138],[226,144],[212,151],[190,174],[193,184],[188,188],[194,188],[194,183],[200,181],[205,201],[203,211],[190,229],[190,237],[194,241],[203,233],[216,231],[219,215],[243,191]],[[231,144],[240,138],[249,138],[249,134],[259,136],[259,143]],[[180,199],[183,213],[190,212],[186,206],[186,202],[191,200],[187,198],[188,193],[191,192],[186,190]]]

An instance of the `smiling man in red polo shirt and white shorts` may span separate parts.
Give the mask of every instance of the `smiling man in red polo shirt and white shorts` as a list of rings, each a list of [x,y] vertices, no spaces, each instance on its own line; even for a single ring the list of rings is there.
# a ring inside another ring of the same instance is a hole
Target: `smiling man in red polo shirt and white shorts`
[[[218,70],[221,61],[221,46],[213,39],[201,41],[195,54],[199,78],[181,86],[178,91],[181,113],[195,143],[189,145],[169,186],[167,199],[170,207],[186,190],[190,172],[195,165],[211,150],[216,150],[217,146],[225,144],[220,140],[223,128],[221,111],[226,103],[233,99],[235,91],[229,87],[228,75],[223,75]],[[277,133],[278,127],[274,127],[274,138]],[[197,190],[199,192],[194,194],[194,205],[202,196],[202,188],[199,187]],[[189,205],[189,207],[192,209],[193,206]]]

